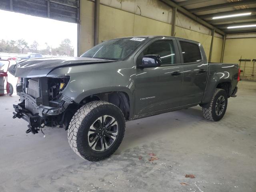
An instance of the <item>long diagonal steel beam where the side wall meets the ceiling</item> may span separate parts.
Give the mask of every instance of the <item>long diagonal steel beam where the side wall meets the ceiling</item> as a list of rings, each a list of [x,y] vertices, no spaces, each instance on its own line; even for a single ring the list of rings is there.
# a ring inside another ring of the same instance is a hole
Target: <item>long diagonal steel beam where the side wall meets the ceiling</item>
[[[198,18],[198,16],[196,16],[196,15],[190,13],[188,10],[182,8],[181,6],[178,6],[178,5],[177,5],[176,3],[174,3],[173,1],[171,1],[171,0],[161,0],[161,1],[164,2],[164,3],[166,3],[167,5],[169,5],[169,6],[171,6],[171,7],[177,8],[178,11],[182,12],[183,14],[185,14],[186,16],[188,16],[189,18],[191,18],[191,19],[197,21],[198,23],[200,23],[200,24],[202,24],[202,25],[204,25],[204,26],[206,26],[206,27],[208,27],[208,28],[210,28],[210,29],[214,29],[215,32],[218,32],[219,34],[225,35],[225,33],[224,33],[222,30],[220,30],[220,29],[218,29],[218,28],[212,26],[212,25],[209,24],[208,22],[206,22],[206,21],[204,21],[204,20]]]

